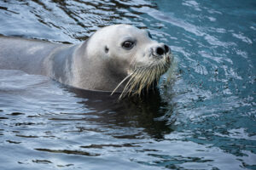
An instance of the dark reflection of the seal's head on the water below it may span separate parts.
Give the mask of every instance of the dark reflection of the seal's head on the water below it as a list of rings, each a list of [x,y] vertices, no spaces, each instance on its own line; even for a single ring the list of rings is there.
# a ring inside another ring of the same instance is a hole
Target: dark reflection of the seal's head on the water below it
[[[161,100],[157,90],[141,98],[119,100],[119,94],[67,89],[76,97],[84,99],[81,102],[84,107],[96,111],[98,118],[90,119],[92,122],[100,122],[108,127],[143,127],[144,132],[154,139],[162,139],[166,133],[172,132],[172,127],[166,119],[157,119],[172,110]]]

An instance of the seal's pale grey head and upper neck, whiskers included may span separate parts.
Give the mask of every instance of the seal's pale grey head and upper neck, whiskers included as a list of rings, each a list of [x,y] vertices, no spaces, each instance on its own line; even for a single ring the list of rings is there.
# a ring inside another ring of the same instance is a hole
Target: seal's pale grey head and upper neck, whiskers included
[[[144,88],[159,81],[172,63],[166,44],[154,41],[148,31],[130,25],[96,31],[75,56],[79,57],[74,58],[73,86],[86,84],[86,89],[121,92],[121,98],[142,94]]]

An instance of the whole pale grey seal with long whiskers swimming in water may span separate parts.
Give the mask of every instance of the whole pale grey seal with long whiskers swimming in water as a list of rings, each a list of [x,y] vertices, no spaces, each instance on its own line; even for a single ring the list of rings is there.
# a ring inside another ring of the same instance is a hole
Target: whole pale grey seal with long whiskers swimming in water
[[[75,88],[142,94],[172,63],[170,48],[149,31],[106,26],[81,44],[0,37],[0,69],[40,74]]]

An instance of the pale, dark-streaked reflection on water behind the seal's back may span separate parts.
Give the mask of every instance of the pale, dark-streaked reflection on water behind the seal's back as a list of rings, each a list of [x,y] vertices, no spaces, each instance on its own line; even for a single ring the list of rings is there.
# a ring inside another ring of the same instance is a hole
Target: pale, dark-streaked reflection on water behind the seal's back
[[[146,1],[102,0],[8,1],[0,6],[3,16],[0,19],[1,34],[59,42],[84,41],[99,28],[111,24],[132,24],[130,19],[140,18],[140,13],[131,13],[131,6],[155,8]],[[10,25],[13,27],[11,31],[7,29]]]

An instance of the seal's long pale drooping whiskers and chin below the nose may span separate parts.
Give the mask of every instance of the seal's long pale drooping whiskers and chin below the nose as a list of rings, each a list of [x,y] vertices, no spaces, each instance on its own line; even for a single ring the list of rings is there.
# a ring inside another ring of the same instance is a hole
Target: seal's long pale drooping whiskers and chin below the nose
[[[143,89],[147,92],[154,82],[159,82],[160,76],[168,71],[171,65],[172,54],[165,54],[161,59],[156,59],[145,65],[134,66],[128,73],[128,76],[119,83],[113,93],[125,82],[125,88],[119,96],[119,99],[125,96],[141,95]],[[113,94],[112,93],[112,94]]]

